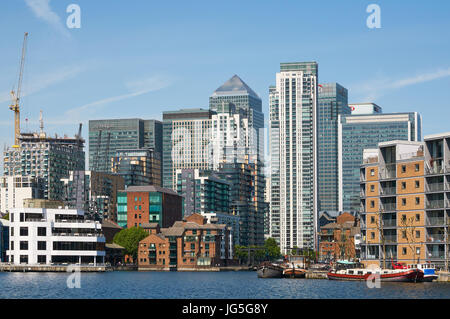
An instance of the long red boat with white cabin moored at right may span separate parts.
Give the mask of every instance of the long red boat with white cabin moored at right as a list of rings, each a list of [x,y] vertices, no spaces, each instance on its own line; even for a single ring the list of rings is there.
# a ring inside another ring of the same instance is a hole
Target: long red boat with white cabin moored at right
[[[379,275],[380,280],[394,282],[422,282],[423,271],[419,269],[341,269],[331,270],[327,276],[330,280],[371,280],[373,275]],[[370,277],[370,278],[369,278]]]

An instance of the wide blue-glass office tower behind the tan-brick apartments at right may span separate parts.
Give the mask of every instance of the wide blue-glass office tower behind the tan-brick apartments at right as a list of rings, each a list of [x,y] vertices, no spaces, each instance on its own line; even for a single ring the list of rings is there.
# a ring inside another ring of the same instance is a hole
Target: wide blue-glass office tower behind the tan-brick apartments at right
[[[339,119],[339,210],[359,209],[359,167],[363,150],[391,140],[420,141],[421,117],[416,112],[344,115]]]

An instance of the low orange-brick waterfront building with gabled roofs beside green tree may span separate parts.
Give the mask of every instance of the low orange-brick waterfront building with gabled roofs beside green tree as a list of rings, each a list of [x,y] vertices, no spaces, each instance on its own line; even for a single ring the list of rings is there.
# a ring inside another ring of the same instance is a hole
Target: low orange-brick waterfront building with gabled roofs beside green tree
[[[150,231],[139,242],[139,270],[190,271],[226,266],[233,258],[232,235],[226,225],[208,224],[193,214],[169,228]]]

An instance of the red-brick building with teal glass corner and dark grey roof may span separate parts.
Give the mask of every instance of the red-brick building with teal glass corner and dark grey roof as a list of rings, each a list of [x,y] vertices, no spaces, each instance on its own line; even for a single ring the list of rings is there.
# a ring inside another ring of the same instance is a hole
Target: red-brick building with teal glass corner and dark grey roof
[[[183,198],[172,189],[159,186],[130,186],[118,193],[117,223],[120,227],[141,227],[158,223],[170,227],[183,218]]]

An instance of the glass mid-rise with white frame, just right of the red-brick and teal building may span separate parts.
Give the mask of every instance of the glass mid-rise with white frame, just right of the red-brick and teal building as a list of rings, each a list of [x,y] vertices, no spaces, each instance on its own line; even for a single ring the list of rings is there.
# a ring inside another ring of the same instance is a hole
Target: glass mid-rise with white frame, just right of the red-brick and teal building
[[[184,216],[229,213],[230,183],[213,171],[177,169],[177,192],[184,197]]]

